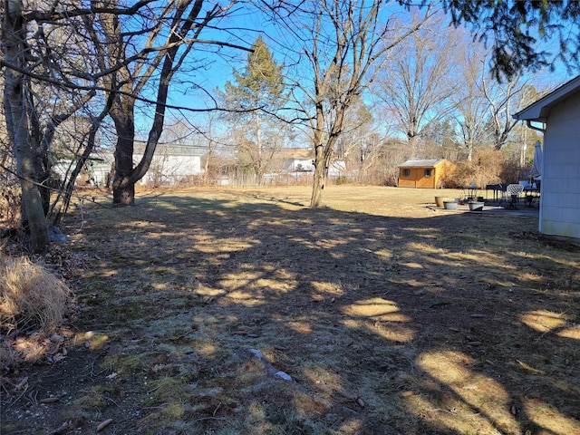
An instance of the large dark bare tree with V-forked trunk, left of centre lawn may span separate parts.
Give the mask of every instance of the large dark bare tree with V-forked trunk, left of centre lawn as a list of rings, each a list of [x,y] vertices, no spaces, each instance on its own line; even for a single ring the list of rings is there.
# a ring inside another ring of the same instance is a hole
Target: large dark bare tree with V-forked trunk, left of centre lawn
[[[233,3],[141,1],[122,7],[118,0],[107,0],[99,5],[101,12],[87,16],[85,23],[100,53],[101,71],[110,72],[102,75],[102,87],[105,94],[114,94],[109,113],[117,131],[113,204],[131,205],[135,183],[149,169],[163,131],[171,80],[188,62],[194,46],[229,45],[202,40],[200,35],[213,20],[226,15]],[[136,19],[125,21],[120,16]],[[155,111],[143,156],[133,166],[136,103],[148,92],[155,94],[150,102]]]

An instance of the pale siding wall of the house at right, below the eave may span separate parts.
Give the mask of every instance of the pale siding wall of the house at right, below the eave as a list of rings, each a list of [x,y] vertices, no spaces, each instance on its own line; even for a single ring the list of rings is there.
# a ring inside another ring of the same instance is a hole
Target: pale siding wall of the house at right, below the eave
[[[580,93],[553,107],[546,126],[539,229],[580,238]]]

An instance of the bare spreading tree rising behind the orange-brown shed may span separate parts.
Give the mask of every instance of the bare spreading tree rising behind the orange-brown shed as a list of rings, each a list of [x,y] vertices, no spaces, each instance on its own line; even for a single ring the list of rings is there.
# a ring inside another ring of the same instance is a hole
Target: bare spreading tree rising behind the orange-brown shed
[[[413,14],[412,20],[415,24],[422,18]],[[449,115],[450,97],[459,86],[455,73],[458,36],[443,21],[443,15],[433,16],[393,47],[372,86],[374,96],[409,140],[409,157],[420,157],[422,131]]]

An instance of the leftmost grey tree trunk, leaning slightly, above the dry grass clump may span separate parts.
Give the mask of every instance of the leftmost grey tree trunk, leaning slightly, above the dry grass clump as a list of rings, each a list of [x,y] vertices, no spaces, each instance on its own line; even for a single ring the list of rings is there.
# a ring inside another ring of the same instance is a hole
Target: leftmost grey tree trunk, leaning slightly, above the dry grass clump
[[[25,67],[24,25],[22,2],[5,2],[3,25],[5,59]],[[13,141],[16,172],[20,178],[24,220],[30,233],[31,250],[43,253],[49,247],[48,225],[44,218],[43,201],[34,178],[34,151],[28,131],[26,82],[22,73],[5,69],[5,118],[8,135]]]

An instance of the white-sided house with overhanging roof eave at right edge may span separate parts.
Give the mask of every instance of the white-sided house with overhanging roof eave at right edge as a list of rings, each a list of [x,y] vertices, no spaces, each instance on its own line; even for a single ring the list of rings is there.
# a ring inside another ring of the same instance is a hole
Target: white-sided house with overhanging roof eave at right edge
[[[580,76],[513,116],[544,132],[540,233],[580,241]]]

